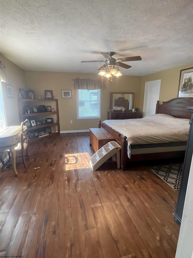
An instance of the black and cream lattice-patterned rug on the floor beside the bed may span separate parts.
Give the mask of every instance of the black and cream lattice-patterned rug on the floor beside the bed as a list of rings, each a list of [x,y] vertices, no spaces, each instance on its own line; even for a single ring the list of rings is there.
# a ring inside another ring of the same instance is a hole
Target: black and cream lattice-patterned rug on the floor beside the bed
[[[182,177],[182,164],[157,166],[150,169],[174,190],[179,190]]]

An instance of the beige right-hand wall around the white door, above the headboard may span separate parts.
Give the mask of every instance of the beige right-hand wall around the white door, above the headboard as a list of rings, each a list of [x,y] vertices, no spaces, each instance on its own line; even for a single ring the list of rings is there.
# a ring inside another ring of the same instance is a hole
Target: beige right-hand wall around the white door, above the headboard
[[[145,82],[161,80],[160,101],[167,101],[178,97],[180,70],[193,67],[193,63],[174,67],[168,70],[151,73],[141,77],[140,110],[143,110]]]

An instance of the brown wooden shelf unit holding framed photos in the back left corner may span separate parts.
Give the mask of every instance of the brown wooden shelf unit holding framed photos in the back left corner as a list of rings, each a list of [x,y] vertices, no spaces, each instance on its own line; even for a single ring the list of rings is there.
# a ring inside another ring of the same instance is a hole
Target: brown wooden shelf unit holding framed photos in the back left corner
[[[53,103],[54,102],[54,103]],[[55,106],[56,111],[48,111],[48,112],[36,112],[36,113],[30,113],[30,114],[24,114],[23,108],[24,106],[39,106],[39,105],[47,105],[47,106],[52,106],[51,103]],[[57,99],[18,99],[18,108],[19,108],[19,117],[20,117],[20,123],[23,122],[25,119],[32,118],[31,120],[42,120],[45,119],[46,117],[52,117],[52,115],[56,114],[57,117],[57,122],[53,123],[46,123],[46,124],[41,124],[41,125],[36,125],[28,128],[28,131],[34,130],[34,129],[40,129],[44,127],[58,127],[58,133],[60,133],[60,119],[59,119],[59,107],[58,107],[58,100]],[[39,119],[35,119],[35,117],[39,117]],[[54,121],[55,119],[53,119]],[[37,137],[38,138],[38,137]]]

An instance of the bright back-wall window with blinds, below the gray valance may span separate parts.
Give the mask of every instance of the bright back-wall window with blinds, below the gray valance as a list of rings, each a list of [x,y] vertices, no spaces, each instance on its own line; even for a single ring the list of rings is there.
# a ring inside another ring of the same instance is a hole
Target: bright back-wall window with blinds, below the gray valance
[[[77,119],[101,117],[101,90],[77,90]]]

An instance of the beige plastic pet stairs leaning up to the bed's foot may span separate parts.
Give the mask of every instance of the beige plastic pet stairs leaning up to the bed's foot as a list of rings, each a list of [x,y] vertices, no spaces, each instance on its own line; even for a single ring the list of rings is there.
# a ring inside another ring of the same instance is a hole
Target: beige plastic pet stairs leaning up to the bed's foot
[[[99,168],[107,159],[116,154],[117,168],[120,168],[120,149],[121,146],[114,141],[106,143],[102,148],[100,148],[91,158],[90,164],[93,171]]]

